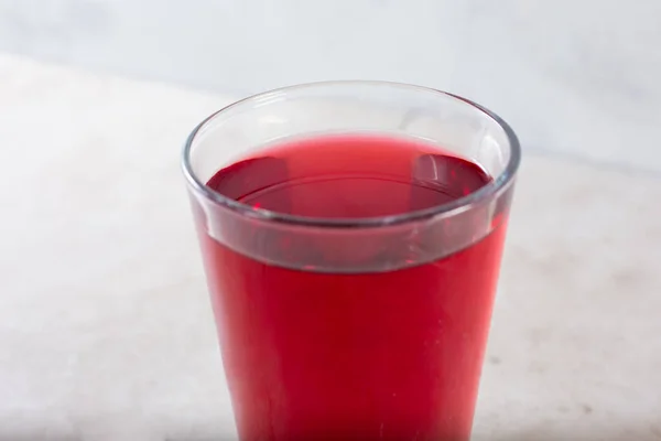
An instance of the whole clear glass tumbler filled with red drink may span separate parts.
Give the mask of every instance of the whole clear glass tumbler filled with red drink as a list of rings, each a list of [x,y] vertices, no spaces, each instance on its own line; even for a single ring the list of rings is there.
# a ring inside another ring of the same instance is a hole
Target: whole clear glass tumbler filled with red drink
[[[468,440],[520,147],[447,93],[329,82],[183,158],[239,438]]]

